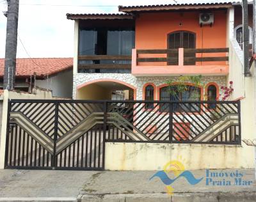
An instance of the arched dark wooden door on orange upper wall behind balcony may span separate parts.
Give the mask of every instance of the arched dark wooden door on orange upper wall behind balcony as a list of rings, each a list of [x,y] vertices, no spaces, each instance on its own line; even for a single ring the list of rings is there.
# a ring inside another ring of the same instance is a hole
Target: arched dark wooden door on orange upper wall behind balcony
[[[195,49],[195,33],[189,31],[175,31],[168,35],[168,49]],[[173,58],[168,65],[179,65],[179,54],[168,54],[168,58]],[[189,58],[189,59],[188,59]],[[195,65],[195,52],[184,52],[184,65]]]

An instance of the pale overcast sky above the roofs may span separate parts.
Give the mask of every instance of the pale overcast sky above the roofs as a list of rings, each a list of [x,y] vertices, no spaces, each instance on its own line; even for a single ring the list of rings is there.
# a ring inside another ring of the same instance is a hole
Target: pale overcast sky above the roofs
[[[192,0],[176,1],[191,3]],[[225,0],[216,1],[225,2]],[[67,20],[66,13],[117,13],[118,5],[175,3],[173,0],[20,0],[19,2],[17,58],[72,58],[74,20]],[[193,2],[212,2],[212,0],[193,0]],[[6,10],[6,1],[0,0],[0,58],[4,58],[6,17],[3,12]]]

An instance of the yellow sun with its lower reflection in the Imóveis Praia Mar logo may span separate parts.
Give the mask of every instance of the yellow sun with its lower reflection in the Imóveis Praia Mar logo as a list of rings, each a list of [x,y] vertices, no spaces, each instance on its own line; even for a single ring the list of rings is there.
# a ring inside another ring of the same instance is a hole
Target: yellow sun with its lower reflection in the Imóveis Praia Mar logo
[[[170,160],[167,164],[164,165],[163,171],[168,173],[173,173],[175,177],[179,176],[180,173],[183,173],[185,171],[185,166],[180,162],[182,160],[184,162],[184,159],[182,159],[181,156],[179,156],[177,159],[179,160]],[[166,193],[169,195],[173,194],[173,187],[171,185],[166,185]]]

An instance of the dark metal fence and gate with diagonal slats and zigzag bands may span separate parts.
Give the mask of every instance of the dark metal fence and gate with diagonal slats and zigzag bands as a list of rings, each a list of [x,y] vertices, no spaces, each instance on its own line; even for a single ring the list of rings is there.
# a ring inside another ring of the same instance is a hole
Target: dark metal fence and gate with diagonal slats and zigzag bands
[[[101,170],[106,142],[241,144],[240,102],[9,101],[6,167]]]

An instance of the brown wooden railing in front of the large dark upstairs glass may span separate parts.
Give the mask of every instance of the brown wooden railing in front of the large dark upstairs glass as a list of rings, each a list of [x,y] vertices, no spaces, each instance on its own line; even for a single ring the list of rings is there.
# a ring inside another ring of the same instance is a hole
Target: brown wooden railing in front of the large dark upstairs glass
[[[132,56],[111,56],[111,55],[93,55],[93,56],[78,56],[78,61],[92,61],[92,64],[78,63],[78,68],[86,69],[131,69],[131,64],[120,64],[118,61],[131,61]],[[102,61],[110,61],[104,63]],[[112,61],[112,62],[111,62]]]

